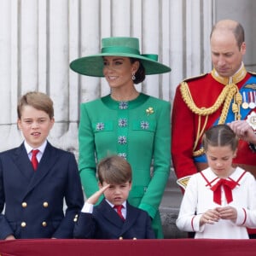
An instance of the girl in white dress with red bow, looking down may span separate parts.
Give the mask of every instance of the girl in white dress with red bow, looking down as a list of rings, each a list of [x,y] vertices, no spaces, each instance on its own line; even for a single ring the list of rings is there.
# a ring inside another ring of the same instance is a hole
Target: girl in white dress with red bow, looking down
[[[237,144],[228,125],[206,131],[202,146],[209,167],[189,179],[179,230],[195,232],[195,238],[247,239],[247,228],[256,228],[256,183],[250,172],[232,166]]]

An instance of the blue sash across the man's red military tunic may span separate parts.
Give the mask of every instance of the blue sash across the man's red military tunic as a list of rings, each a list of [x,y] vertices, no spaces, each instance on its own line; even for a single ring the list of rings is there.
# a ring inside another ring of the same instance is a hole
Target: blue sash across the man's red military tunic
[[[245,95],[249,95],[249,92],[252,91],[252,88],[246,88],[247,84],[256,84],[256,76],[252,76],[250,79],[247,80],[247,82],[245,84],[242,85],[241,89],[240,89],[240,93],[241,96],[243,96],[243,92],[245,92]],[[256,101],[256,99],[254,99]],[[232,103],[234,102],[234,99],[232,100],[232,102],[230,103],[230,105],[232,105]],[[247,100],[247,102],[249,102]],[[252,111],[251,108],[240,108],[240,113],[241,113],[241,119],[246,119],[247,115]],[[218,125],[218,120],[220,117],[218,117],[218,119],[215,120],[214,125]],[[232,108],[229,109],[228,115],[227,115],[227,119],[225,121],[225,124],[230,123],[232,121],[234,121],[235,119],[235,113],[233,113]],[[195,162],[200,162],[200,163],[206,163],[207,162],[207,157],[206,154],[202,154],[200,156],[196,156],[194,157],[194,161]]]

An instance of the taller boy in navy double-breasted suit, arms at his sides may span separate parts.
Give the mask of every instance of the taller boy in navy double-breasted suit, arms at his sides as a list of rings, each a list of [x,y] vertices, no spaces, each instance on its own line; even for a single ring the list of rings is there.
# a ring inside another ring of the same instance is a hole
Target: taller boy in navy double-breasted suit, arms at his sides
[[[47,141],[55,122],[53,102],[29,92],[17,112],[25,140],[0,154],[0,239],[73,238],[84,195],[74,155]]]

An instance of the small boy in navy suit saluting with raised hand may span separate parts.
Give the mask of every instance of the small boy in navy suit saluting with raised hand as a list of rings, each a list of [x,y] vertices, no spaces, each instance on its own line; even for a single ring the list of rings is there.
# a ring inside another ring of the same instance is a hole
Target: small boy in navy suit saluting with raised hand
[[[120,156],[98,165],[99,190],[88,198],[74,228],[75,238],[153,239],[148,213],[127,201],[131,190],[131,166]],[[101,195],[104,199],[94,206]],[[115,207],[121,208],[121,212]],[[119,213],[118,213],[119,212]],[[119,216],[120,215],[120,216]]]

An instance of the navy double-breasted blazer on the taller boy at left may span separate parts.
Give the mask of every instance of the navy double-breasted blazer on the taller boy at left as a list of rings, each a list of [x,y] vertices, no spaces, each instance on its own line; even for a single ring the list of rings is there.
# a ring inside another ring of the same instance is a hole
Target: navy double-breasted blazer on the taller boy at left
[[[47,143],[36,172],[23,143],[0,154],[0,239],[11,234],[15,238],[73,238],[74,219],[83,204],[72,153]]]

